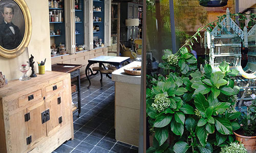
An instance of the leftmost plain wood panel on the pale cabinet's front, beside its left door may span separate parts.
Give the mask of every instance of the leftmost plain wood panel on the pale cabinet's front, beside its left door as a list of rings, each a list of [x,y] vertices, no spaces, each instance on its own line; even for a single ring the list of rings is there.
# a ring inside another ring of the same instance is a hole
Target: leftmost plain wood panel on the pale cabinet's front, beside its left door
[[[10,152],[25,152],[28,148],[26,138],[28,134],[28,122],[25,122],[24,115],[27,109],[9,116],[10,130],[6,132]]]

